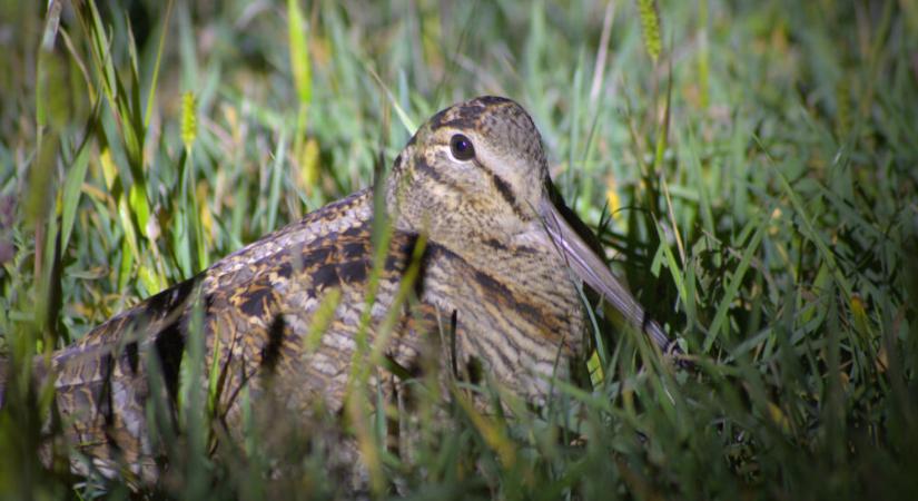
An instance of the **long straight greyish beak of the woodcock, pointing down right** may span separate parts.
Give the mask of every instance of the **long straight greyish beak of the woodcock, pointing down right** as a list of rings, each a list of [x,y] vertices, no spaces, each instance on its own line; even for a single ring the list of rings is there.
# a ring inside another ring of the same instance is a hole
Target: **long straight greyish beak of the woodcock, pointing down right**
[[[554,240],[571,269],[590,287],[602,294],[609,304],[621,312],[629,322],[646,333],[663,353],[678,352],[675,342],[670,341],[660,325],[646,316],[631,293],[567,224],[554,204],[546,198],[539,207],[539,212],[545,222],[549,236]]]

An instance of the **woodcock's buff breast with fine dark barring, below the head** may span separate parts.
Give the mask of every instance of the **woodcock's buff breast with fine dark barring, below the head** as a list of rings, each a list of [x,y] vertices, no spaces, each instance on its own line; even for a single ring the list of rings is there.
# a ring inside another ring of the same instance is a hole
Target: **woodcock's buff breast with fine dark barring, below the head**
[[[533,242],[484,239],[451,249],[431,243],[423,299],[455,315],[460,364],[481,363],[535,401],[580,353],[583,307],[560,255]]]

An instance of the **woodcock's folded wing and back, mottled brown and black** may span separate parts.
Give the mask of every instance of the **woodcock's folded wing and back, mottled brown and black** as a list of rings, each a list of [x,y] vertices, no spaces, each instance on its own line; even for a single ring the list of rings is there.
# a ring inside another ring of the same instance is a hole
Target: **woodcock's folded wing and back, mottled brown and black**
[[[339,407],[355,350],[377,343],[416,242],[393,235],[383,269],[373,273],[372,205],[364,190],[310,213],[57,352],[49,371],[72,442],[99,468],[127,464],[132,474],[154,480],[157,451],[147,435],[146,402],[157,386],[149,370],[158,367],[161,396],[174,403],[189,332],[203,334],[205,365],[217,367],[218,412],[227,423],[238,419],[240,390],[261,392],[267,375],[292,409],[316,397]],[[323,307],[327,314],[316,315]],[[383,354],[398,363],[421,350],[421,330],[405,327],[413,317],[405,313],[382,340]]]

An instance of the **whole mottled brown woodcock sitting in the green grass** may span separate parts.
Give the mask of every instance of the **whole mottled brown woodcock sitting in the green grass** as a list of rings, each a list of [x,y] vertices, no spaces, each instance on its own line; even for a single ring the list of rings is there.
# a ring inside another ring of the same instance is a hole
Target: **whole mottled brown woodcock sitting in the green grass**
[[[582,353],[583,283],[663,352],[674,350],[553,203],[541,137],[516,102],[480,97],[438,112],[384,183],[381,217],[374,191],[357,191],[115,316],[49,366],[39,363],[39,377],[55,382],[70,443],[110,474],[120,465],[156,480],[148,358],[175,404],[195,312],[230,434],[244,386],[251,399],[283,395],[294,412],[317,404],[337,412],[361,343],[411,374],[443,332],[451,371],[475,361],[542,403],[552,377],[567,377]],[[389,238],[374,238],[374,219],[385,219]],[[387,242],[383,259],[374,261],[375,242]]]

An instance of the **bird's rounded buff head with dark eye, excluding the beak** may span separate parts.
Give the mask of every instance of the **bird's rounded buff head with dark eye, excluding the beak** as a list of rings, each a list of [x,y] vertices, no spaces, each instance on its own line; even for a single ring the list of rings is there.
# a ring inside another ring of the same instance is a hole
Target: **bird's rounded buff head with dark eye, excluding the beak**
[[[395,160],[387,186],[399,226],[432,238],[515,234],[547,197],[542,138],[529,114],[500,97],[446,108],[424,124]]]

